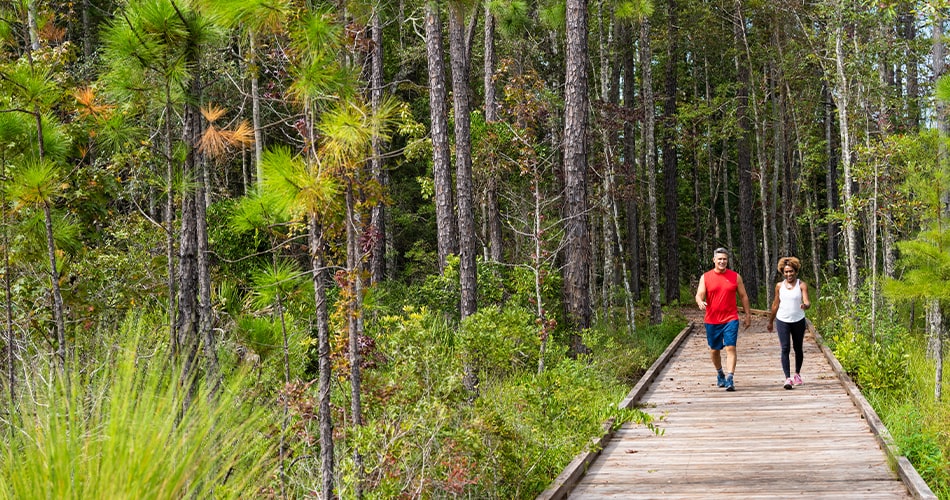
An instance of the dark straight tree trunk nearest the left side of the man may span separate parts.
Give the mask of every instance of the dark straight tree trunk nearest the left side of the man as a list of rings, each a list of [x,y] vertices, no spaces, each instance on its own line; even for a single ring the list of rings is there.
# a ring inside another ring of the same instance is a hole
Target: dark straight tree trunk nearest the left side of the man
[[[667,2],[668,17],[668,40],[666,50],[666,101],[663,106],[663,179],[665,204],[665,224],[664,238],[666,247],[666,303],[672,304],[679,301],[680,283],[679,283],[679,172],[677,171],[677,149],[676,135],[678,131],[676,123],[676,66],[679,61],[677,39],[679,37],[677,30],[676,0]]]

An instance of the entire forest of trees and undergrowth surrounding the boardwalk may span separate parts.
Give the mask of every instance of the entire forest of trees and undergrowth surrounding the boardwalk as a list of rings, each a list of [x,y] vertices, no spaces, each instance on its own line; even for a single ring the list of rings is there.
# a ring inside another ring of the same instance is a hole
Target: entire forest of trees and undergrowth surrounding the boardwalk
[[[947,12],[0,2],[0,497],[532,497],[720,246],[945,497]]]

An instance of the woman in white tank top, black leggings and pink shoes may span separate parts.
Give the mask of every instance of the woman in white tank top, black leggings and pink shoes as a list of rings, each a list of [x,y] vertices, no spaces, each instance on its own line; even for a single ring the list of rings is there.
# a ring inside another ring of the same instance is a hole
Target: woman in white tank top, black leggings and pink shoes
[[[782,371],[785,372],[783,386],[791,389],[802,384],[803,344],[805,341],[805,310],[811,307],[808,299],[808,285],[798,279],[801,261],[797,257],[782,257],[778,261],[778,271],[785,277],[775,284],[775,299],[769,311],[768,330],[777,327],[778,340],[782,346]],[[790,376],[789,354],[795,349],[795,375]]]

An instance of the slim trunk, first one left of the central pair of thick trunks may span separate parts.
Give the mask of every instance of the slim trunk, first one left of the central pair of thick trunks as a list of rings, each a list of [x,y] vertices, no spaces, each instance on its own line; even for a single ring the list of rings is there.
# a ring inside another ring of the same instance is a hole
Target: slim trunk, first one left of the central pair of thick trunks
[[[373,9],[370,25],[373,40],[372,68],[370,73],[370,104],[377,113],[383,102],[383,26],[380,22],[378,7]],[[383,169],[383,141],[373,137],[373,157],[370,159],[370,174],[382,192],[386,192],[389,176]],[[386,206],[382,200],[376,200],[370,209],[370,234],[373,241],[370,255],[370,283],[379,283],[386,272],[386,240],[390,238],[386,226]]]

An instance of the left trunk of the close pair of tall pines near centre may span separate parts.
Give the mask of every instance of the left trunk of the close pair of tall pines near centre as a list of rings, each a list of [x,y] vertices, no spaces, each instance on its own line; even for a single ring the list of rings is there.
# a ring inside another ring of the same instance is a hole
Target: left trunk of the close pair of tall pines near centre
[[[438,232],[439,271],[445,271],[446,258],[457,254],[458,223],[452,196],[452,170],[449,158],[448,93],[445,88],[445,57],[442,48],[442,21],[439,4],[426,3],[426,53],[429,66],[429,113],[432,122],[432,175],[435,189],[435,218]]]

